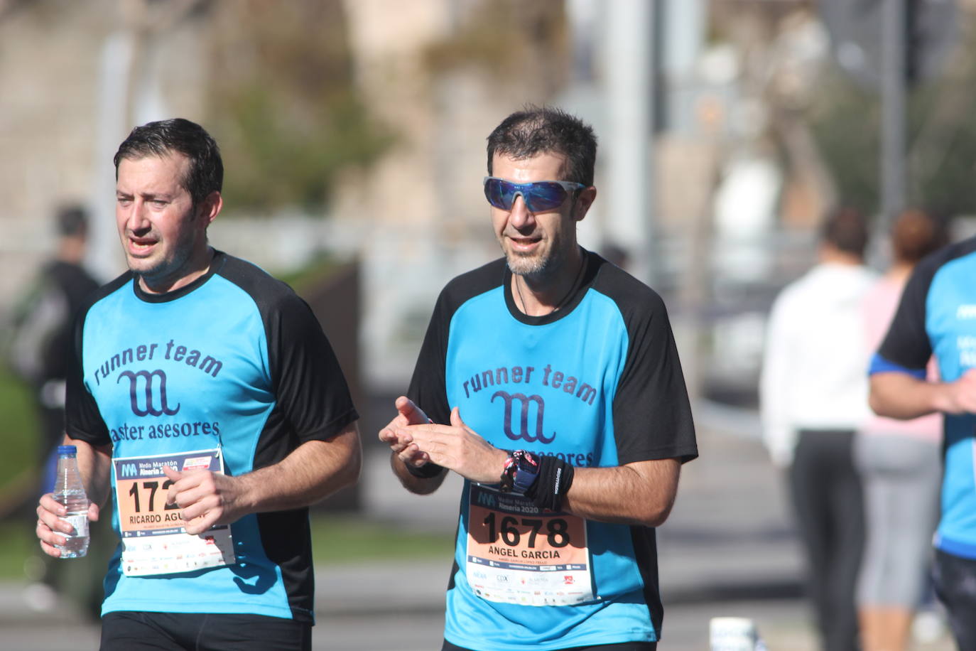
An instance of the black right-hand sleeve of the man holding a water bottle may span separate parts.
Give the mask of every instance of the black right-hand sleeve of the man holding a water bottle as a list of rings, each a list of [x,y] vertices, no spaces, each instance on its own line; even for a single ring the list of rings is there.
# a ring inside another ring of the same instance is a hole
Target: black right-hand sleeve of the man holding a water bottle
[[[357,420],[336,354],[305,301],[287,290],[264,318],[275,397],[299,440],[331,438]]]

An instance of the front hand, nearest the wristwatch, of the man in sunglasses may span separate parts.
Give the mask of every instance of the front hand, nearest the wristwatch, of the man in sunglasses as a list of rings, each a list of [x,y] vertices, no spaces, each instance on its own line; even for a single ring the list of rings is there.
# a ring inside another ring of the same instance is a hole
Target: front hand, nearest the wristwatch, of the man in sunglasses
[[[479,483],[498,483],[508,459],[508,452],[494,447],[461,420],[455,407],[451,425],[415,425],[399,427],[398,433],[409,434],[430,461],[454,470]]]

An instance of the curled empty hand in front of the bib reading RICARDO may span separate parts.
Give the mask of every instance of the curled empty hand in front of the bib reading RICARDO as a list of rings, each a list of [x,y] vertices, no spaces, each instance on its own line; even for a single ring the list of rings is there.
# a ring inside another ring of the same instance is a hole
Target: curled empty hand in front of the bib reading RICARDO
[[[186,533],[201,534],[215,524],[230,524],[245,514],[240,507],[241,486],[235,477],[211,470],[179,472],[163,467],[173,484],[166,503],[181,509]]]

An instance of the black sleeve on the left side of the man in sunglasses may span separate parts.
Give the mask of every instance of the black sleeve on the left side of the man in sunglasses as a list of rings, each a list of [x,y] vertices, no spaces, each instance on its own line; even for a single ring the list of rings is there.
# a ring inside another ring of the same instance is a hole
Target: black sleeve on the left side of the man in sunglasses
[[[447,336],[453,310],[448,307],[447,290],[437,297],[424,344],[414,366],[414,375],[407,389],[407,397],[424,410],[434,423],[449,423],[451,407],[447,404],[447,387],[444,384],[447,358]]]

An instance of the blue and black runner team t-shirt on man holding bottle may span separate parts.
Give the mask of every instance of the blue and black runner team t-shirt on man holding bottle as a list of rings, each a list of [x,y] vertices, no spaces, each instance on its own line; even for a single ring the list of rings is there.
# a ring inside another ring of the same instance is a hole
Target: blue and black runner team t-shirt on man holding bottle
[[[246,515],[189,536],[165,504],[162,471],[244,474],[356,420],[308,305],[253,264],[217,252],[204,276],[163,295],[121,275],[91,299],[75,339],[67,433],[111,445],[112,518],[122,538],[102,614],[311,622],[307,509]]]

